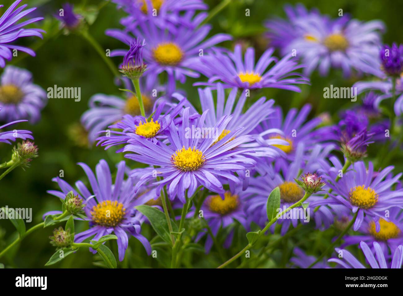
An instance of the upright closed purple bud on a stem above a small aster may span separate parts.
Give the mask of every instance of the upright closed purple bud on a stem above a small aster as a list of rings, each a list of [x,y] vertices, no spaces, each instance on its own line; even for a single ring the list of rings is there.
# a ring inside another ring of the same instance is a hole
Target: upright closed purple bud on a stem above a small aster
[[[130,49],[123,57],[123,64],[120,66],[120,72],[129,79],[139,79],[147,68],[143,63],[143,42],[140,39],[130,41]]]

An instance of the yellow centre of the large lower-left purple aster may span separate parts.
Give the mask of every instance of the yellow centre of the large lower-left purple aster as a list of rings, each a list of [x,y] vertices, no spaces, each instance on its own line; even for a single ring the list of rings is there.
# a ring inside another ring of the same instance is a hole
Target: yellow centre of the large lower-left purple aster
[[[100,226],[115,227],[124,219],[126,209],[117,201],[103,201],[93,206],[92,221]]]

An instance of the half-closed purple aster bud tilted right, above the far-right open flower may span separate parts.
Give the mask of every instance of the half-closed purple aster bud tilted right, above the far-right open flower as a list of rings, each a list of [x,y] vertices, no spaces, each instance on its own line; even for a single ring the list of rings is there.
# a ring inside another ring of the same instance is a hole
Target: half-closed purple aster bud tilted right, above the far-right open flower
[[[374,133],[367,132],[367,128],[363,128],[360,130],[355,137],[352,139],[345,141],[343,143],[342,140],[342,151],[347,159],[350,161],[359,161],[366,157],[367,146],[370,143],[374,143],[372,140],[372,136]]]

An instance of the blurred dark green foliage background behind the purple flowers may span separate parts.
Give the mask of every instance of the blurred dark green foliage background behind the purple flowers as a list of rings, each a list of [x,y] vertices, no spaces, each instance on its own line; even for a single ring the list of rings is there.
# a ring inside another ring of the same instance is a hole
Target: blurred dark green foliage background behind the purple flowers
[[[42,119],[36,125],[19,124],[20,129],[33,131],[35,144],[39,147],[39,157],[31,162],[31,167],[25,172],[17,168],[8,174],[0,182],[0,205],[13,208],[32,208],[33,221],[27,224],[27,228],[41,221],[44,212],[60,209],[60,202],[56,197],[48,195],[46,190],[56,189],[57,186],[51,179],[58,176],[60,170],[64,170],[64,180],[74,184],[76,180],[87,179],[82,169],[76,165],[82,161],[94,168],[97,162],[104,158],[113,170],[114,163],[119,155],[113,155],[100,147],[85,147],[83,139],[85,135],[77,132],[79,118],[85,110],[91,95],[96,93],[121,95],[118,87],[114,85],[113,75],[98,53],[79,35],[65,35],[59,30],[59,22],[52,17],[61,4],[65,1],[59,0],[33,0],[23,1],[29,7],[38,7],[35,16],[45,17],[45,21],[35,24],[34,27],[43,27],[48,34],[44,34],[44,40],[37,37],[25,37],[19,40],[19,44],[29,46],[36,52],[36,57],[25,56],[21,53],[11,63],[15,66],[26,68],[33,73],[34,83],[45,90],[53,85],[60,87],[81,87],[81,101],[74,99],[49,99],[48,105],[42,111]],[[99,6],[105,1],[70,1],[76,8]],[[205,1],[214,8],[219,1]],[[403,2],[379,1],[379,0],[339,0],[339,1],[288,1],[290,4],[302,2],[307,8],[318,8],[320,12],[337,17],[338,10],[351,14],[354,18],[369,21],[380,19],[386,24],[384,42],[401,43],[403,41],[403,30],[401,11]],[[2,1],[1,13],[12,1]],[[257,56],[267,48],[268,40],[264,37],[264,20],[269,17],[285,17],[283,5],[286,2],[268,0],[233,0],[231,4],[217,14],[211,21],[212,31],[215,33],[229,33],[234,36],[234,41],[246,46],[256,48]],[[245,17],[245,9],[250,9],[250,17]],[[108,28],[121,28],[119,19],[125,16],[122,10],[116,10],[116,5],[108,3],[100,11],[96,21],[90,26],[89,32],[101,44],[104,50],[124,48],[123,44],[116,39],[108,37],[104,31]],[[234,42],[224,43],[223,46],[232,48]],[[120,58],[112,58],[116,66]],[[2,71],[2,70],[0,70]],[[328,77],[312,76],[312,86],[303,86],[301,93],[293,93],[277,89],[265,89],[259,95],[266,95],[267,98],[274,98],[276,104],[285,110],[291,107],[300,108],[304,103],[312,103],[313,110],[311,117],[321,112],[330,112],[334,120],[337,120],[338,111],[343,108],[351,108],[354,103],[347,101],[323,99],[323,88],[330,84],[351,86],[357,79],[343,80],[338,71],[331,72]],[[192,84],[198,79],[188,79],[185,85],[178,85],[185,89],[188,98],[197,102],[197,90]],[[357,103],[359,100],[357,101]],[[196,103],[197,104],[197,103]],[[73,127],[76,126],[75,132]],[[78,129],[79,130],[79,129]],[[83,145],[80,145],[83,144]],[[11,155],[12,146],[0,143],[0,161],[7,161]],[[376,151],[372,153],[376,155]],[[133,164],[131,164],[133,165]],[[397,163],[402,169],[402,164]],[[85,230],[86,224],[78,222],[76,232]],[[227,255],[234,254],[242,246],[245,239],[244,230],[239,230],[236,235],[233,250]],[[0,259],[6,267],[43,267],[49,257],[54,253],[54,248],[49,244],[48,237],[52,234],[52,228],[38,230],[23,240],[21,246],[9,252],[6,257]],[[147,238],[153,236],[149,226],[143,227],[143,234]],[[15,238],[15,229],[10,221],[0,220],[0,250]],[[298,236],[303,234],[297,234]],[[329,234],[329,236],[331,233]],[[306,244],[320,244],[329,241],[326,237],[319,240],[314,235]],[[296,239],[297,240],[297,239]],[[312,241],[314,240],[314,241]],[[116,252],[116,243],[111,244],[112,250]],[[143,246],[133,238],[130,240],[131,255],[125,259],[120,267],[157,267],[157,261],[147,257]],[[162,253],[162,252],[160,252]],[[204,260],[193,261],[194,267],[215,267],[220,260],[214,252],[207,258],[201,253],[199,258]],[[161,255],[163,256],[163,255]],[[279,255],[280,256],[280,255]],[[229,258],[229,257],[228,257]],[[162,259],[160,259],[162,260]],[[87,250],[80,250],[77,254],[71,255],[54,267],[93,267],[93,262],[99,261],[97,257],[88,253]],[[268,263],[270,266],[270,263]],[[285,264],[285,263],[284,263]]]

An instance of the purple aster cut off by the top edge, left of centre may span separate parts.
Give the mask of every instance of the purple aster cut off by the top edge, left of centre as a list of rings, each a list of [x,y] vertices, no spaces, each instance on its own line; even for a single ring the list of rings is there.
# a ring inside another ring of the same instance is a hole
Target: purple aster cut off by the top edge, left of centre
[[[118,8],[123,8],[128,14],[120,21],[127,30],[146,21],[153,21],[162,29],[168,26],[169,29],[175,30],[175,25],[194,28],[192,22],[180,14],[208,8],[202,0],[113,0],[112,2],[118,4]]]

